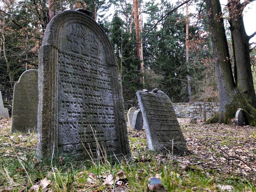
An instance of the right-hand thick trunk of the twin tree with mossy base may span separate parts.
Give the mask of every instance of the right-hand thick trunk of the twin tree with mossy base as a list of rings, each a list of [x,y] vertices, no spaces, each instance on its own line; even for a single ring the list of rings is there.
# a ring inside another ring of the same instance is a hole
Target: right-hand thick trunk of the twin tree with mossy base
[[[228,3],[229,23],[234,44],[236,60],[237,88],[244,94],[248,102],[255,108],[256,96],[253,86],[252,69],[249,52],[249,38],[245,32],[242,17],[242,6],[239,0],[230,0]]]

